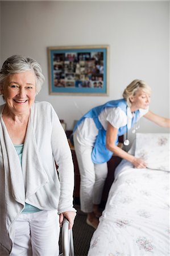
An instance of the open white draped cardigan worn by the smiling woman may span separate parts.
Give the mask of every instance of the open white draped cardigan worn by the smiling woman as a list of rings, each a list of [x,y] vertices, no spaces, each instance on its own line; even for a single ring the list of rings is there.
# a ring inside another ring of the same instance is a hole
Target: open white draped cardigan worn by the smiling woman
[[[14,241],[13,224],[25,202],[39,209],[57,209],[58,214],[76,210],[72,154],[51,104],[35,102],[31,107],[22,168],[2,119],[4,107],[0,106],[0,255],[9,255]]]

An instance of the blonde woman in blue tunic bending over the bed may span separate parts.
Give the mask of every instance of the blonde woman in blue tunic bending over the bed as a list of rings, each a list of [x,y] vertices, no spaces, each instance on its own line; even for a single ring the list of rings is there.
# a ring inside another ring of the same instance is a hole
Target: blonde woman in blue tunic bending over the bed
[[[88,225],[97,228],[99,204],[107,176],[107,161],[114,154],[145,168],[146,163],[117,146],[118,136],[127,133],[144,116],[162,127],[169,127],[169,119],[148,110],[151,88],[146,82],[134,80],[123,92],[121,100],[109,101],[86,113],[74,127],[74,147],[80,170],[81,210],[87,213]],[[128,144],[126,139],[125,144]]]

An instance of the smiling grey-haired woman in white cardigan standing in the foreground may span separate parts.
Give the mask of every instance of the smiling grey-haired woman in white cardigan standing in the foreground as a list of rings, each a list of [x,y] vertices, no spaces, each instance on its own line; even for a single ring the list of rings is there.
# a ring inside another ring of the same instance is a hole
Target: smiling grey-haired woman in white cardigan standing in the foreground
[[[63,218],[72,228],[76,216],[67,137],[51,104],[35,102],[43,81],[40,65],[29,57],[11,56],[0,71],[3,256],[58,255]]]

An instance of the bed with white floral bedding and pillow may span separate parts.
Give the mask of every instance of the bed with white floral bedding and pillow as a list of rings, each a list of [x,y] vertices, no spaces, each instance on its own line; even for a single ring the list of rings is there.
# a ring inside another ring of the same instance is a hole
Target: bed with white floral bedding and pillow
[[[169,255],[169,134],[136,134],[131,154],[148,168],[122,160],[88,256]]]

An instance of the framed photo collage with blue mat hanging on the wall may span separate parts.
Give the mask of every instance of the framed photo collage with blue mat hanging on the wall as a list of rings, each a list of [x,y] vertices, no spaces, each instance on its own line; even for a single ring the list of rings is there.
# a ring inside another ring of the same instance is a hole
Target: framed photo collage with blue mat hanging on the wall
[[[48,47],[49,94],[107,96],[109,46]]]

